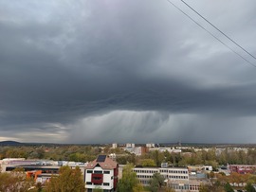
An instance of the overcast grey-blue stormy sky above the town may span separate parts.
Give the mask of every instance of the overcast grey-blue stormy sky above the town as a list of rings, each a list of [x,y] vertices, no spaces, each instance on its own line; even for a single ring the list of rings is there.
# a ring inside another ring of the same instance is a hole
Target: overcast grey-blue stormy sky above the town
[[[186,2],[256,56],[256,1]],[[256,143],[256,67],[224,44],[166,0],[0,0],[0,141]]]

